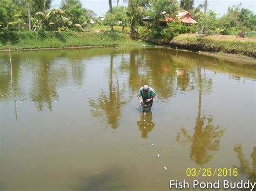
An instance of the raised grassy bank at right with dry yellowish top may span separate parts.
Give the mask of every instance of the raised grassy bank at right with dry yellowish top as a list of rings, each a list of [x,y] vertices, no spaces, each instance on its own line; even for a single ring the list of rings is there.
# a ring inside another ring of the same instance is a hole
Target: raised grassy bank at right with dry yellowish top
[[[192,51],[222,52],[242,54],[256,58],[256,40],[235,36],[204,36],[201,34],[180,34],[171,45]]]

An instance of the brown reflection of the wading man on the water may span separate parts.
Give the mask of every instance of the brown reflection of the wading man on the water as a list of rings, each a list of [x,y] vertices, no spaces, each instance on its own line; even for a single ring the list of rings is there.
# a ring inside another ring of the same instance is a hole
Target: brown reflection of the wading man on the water
[[[137,122],[137,125],[142,132],[142,138],[147,138],[147,133],[151,132],[154,128],[155,124],[152,122],[152,119],[152,111],[146,112],[146,115],[144,115],[143,112],[140,112],[140,121]]]

